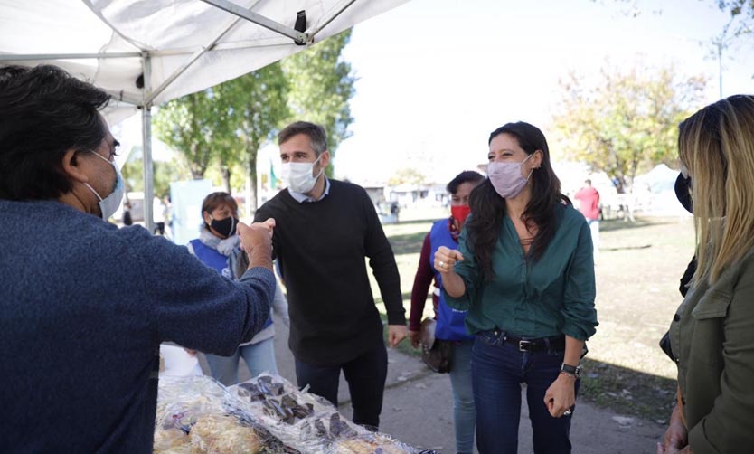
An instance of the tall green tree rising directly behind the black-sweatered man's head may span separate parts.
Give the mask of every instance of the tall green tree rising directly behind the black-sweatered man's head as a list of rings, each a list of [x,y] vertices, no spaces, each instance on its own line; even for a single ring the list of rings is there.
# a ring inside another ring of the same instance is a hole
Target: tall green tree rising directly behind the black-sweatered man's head
[[[355,92],[356,78],[351,73],[351,64],[341,57],[350,40],[351,29],[348,29],[283,61],[283,70],[291,84],[290,120],[322,125],[331,156],[335,156],[340,143],[350,137],[348,126],[353,122],[349,100]],[[325,173],[332,175],[332,164]]]

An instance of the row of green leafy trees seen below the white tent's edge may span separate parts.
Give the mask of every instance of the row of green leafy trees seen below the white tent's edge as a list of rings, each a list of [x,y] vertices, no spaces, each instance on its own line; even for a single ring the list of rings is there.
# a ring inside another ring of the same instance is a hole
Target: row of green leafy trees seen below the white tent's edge
[[[242,168],[253,212],[257,153],[279,128],[297,119],[323,125],[333,155],[348,137],[355,79],[341,52],[350,36],[350,30],[340,33],[285,61],[167,102],[156,113],[156,136],[185,157],[194,179],[216,164],[231,192],[232,169]]]

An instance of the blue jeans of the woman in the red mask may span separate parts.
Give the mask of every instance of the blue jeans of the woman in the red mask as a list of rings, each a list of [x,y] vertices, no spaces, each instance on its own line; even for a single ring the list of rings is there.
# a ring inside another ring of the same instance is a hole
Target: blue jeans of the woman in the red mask
[[[474,450],[476,408],[471,386],[471,339],[453,343],[450,386],[453,388],[453,424],[456,428],[456,451],[471,454]]]

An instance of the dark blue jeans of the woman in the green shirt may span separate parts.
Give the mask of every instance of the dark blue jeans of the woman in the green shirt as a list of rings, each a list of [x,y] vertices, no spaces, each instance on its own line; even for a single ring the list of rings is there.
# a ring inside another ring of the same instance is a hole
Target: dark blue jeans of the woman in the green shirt
[[[504,333],[476,336],[471,376],[476,404],[476,446],[481,454],[516,454],[521,419],[521,383],[532,421],[536,454],[570,453],[570,416],[553,418],[544,394],[560,374],[562,351],[521,352]],[[579,382],[576,383],[578,393]]]

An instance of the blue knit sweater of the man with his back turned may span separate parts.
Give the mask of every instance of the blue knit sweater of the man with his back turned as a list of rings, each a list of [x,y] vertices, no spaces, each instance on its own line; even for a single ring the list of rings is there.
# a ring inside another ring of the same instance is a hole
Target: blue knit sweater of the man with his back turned
[[[0,200],[0,232],[0,452],[152,452],[160,343],[231,355],[269,316],[272,271],[138,226]]]

